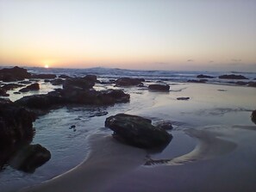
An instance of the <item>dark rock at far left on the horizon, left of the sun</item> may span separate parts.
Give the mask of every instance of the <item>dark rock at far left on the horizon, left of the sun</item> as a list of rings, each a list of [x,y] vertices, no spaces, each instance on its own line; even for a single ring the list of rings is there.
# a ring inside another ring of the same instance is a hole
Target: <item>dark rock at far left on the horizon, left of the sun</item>
[[[29,77],[31,77],[31,74],[26,69],[18,66],[0,70],[0,81],[3,82],[20,81]]]

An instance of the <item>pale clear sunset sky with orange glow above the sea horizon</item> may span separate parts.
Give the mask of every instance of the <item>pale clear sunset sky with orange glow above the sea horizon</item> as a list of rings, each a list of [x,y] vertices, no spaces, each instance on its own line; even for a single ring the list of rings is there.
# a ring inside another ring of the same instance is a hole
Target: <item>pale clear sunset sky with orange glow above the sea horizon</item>
[[[255,0],[0,0],[0,66],[256,71]]]

